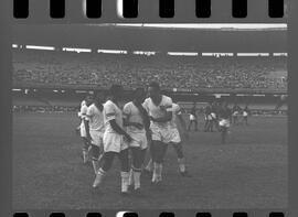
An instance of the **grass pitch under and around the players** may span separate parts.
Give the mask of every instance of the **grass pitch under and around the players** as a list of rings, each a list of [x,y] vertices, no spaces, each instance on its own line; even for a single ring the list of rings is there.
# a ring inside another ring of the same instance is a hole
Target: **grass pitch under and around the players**
[[[94,173],[82,163],[75,113],[14,113],[13,208],[286,208],[287,118],[249,121],[232,127],[225,145],[217,132],[192,132],[184,144],[192,177],[178,174],[169,148],[162,188],[142,177],[142,196],[121,197],[118,161],[102,189],[92,189]]]

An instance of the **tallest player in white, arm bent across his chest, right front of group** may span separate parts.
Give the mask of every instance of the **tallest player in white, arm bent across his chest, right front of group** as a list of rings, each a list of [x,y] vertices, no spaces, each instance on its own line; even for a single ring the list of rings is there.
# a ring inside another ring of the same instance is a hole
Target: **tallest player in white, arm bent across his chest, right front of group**
[[[172,99],[161,95],[158,83],[151,83],[148,88],[149,98],[143,102],[151,123],[152,132],[150,153],[153,161],[152,184],[160,184],[162,174],[162,161],[167,152],[168,144],[173,140],[170,130],[172,120]]]

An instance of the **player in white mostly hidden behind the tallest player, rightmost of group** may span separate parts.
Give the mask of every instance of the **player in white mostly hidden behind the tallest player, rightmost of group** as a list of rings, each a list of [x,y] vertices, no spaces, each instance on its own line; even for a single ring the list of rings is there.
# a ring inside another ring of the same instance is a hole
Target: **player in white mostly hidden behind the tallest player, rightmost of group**
[[[170,144],[173,145],[175,153],[177,153],[177,156],[178,156],[179,173],[182,176],[190,176],[188,171],[187,171],[187,167],[185,167],[185,159],[184,159],[183,149],[182,149],[182,140],[180,137],[179,128],[177,126],[178,121],[183,130],[183,138],[185,140],[188,140],[189,133],[188,133],[185,121],[182,117],[181,108],[178,104],[173,102],[172,104],[172,120],[171,120],[171,124],[170,124],[172,140],[171,140]],[[151,170],[152,170],[152,161],[150,160],[148,165],[146,166],[146,171],[150,172]]]

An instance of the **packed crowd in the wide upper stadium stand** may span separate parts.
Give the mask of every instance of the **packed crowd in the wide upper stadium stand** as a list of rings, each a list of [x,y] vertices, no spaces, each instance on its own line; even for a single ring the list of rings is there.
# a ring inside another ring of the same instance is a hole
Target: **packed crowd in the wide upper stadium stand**
[[[56,51],[13,51],[13,82],[39,85],[111,83],[135,88],[159,80],[162,88],[287,88],[285,57],[140,56]],[[277,76],[272,76],[277,75]]]

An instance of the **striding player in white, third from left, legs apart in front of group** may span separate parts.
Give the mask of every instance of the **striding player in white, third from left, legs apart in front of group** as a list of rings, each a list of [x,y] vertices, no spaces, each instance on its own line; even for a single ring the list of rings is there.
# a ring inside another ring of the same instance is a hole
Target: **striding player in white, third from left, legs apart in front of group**
[[[104,156],[103,165],[96,174],[93,187],[98,187],[105,174],[110,170],[114,158],[119,156],[121,162],[121,193],[127,195],[129,185],[129,159],[128,145],[131,142],[131,137],[124,130],[123,111],[118,107],[118,99],[121,97],[123,87],[120,85],[113,85],[109,89],[110,99],[104,105]],[[127,141],[124,142],[124,139]]]

